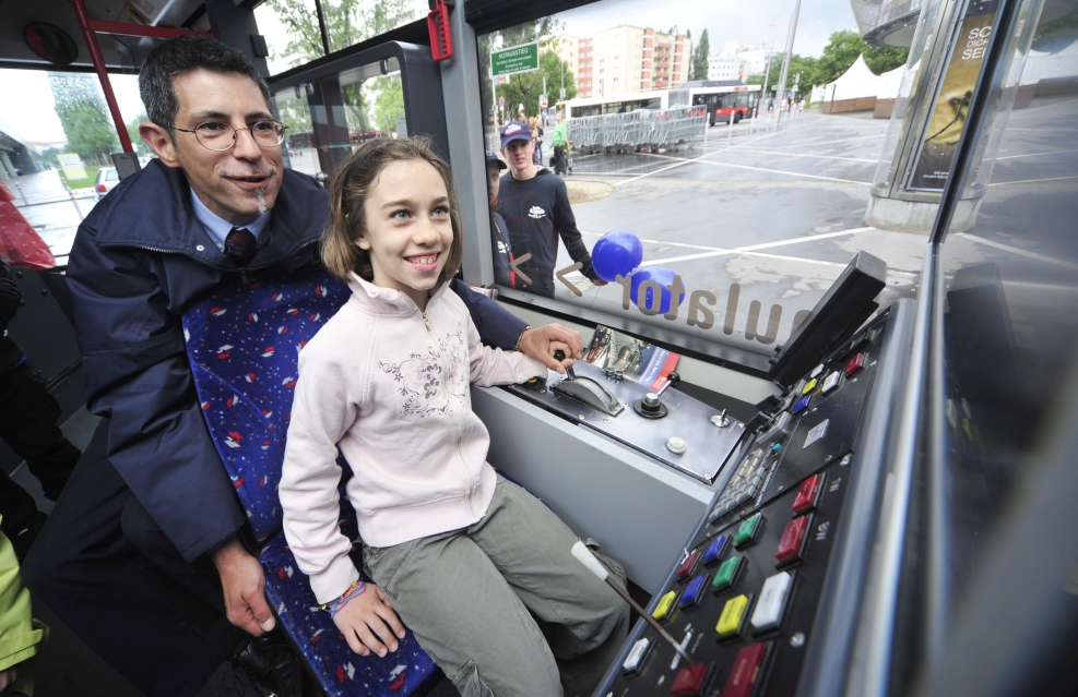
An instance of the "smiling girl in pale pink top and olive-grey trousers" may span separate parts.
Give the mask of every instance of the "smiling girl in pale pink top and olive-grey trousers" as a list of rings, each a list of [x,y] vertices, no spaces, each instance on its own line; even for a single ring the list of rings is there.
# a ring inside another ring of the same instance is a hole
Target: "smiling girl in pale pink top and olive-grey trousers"
[[[353,297],[300,353],[280,490],[299,568],[357,653],[396,650],[395,609],[465,697],[561,695],[558,661],[567,688],[591,692],[628,608],[572,558],[572,531],[486,462],[471,411],[470,382],[546,369],[482,346],[447,292],[461,226],[428,141],[365,144],[342,171],[322,255]],[[336,524],[337,447],[377,586]]]

